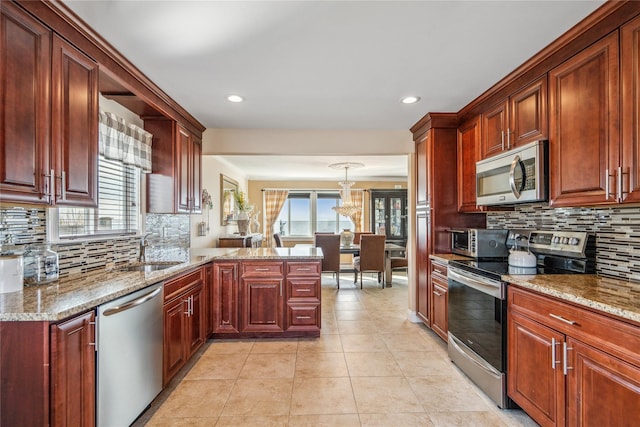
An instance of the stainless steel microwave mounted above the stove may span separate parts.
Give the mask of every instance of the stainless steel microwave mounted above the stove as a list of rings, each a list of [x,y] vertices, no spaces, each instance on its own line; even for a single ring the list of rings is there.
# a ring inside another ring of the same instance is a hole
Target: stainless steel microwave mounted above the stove
[[[476,163],[476,204],[510,205],[548,198],[547,141],[534,141]]]

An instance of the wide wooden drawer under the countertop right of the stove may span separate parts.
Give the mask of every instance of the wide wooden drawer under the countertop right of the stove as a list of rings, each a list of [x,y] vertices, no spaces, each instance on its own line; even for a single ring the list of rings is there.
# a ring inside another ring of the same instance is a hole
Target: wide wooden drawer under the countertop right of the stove
[[[640,365],[640,328],[587,308],[509,286],[509,310]]]

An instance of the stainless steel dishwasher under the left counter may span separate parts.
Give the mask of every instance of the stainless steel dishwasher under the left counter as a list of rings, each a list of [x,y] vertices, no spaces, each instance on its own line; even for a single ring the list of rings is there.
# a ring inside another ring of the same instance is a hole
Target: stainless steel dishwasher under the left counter
[[[130,425],[162,390],[162,286],[98,307],[100,427]]]

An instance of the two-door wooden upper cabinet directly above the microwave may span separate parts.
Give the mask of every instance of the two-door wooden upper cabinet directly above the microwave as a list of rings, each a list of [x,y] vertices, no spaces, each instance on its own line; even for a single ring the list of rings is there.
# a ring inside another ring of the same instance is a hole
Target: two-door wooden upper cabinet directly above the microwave
[[[545,75],[483,112],[481,158],[546,138],[547,120]]]

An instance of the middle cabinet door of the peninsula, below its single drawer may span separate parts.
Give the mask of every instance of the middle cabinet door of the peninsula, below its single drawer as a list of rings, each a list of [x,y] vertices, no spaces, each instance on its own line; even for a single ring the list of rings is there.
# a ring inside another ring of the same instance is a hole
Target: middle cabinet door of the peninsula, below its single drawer
[[[242,279],[241,332],[282,332],[283,279]]]

